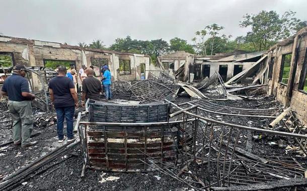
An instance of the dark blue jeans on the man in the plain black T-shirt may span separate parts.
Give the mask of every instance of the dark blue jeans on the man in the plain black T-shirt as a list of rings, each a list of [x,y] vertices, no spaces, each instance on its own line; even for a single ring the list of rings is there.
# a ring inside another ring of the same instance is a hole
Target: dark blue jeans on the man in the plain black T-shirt
[[[67,137],[71,139],[73,137],[73,115],[74,115],[74,106],[65,107],[65,108],[56,108],[56,118],[57,118],[57,136],[59,140],[64,138],[63,127],[64,127],[64,117],[66,119],[67,125]]]

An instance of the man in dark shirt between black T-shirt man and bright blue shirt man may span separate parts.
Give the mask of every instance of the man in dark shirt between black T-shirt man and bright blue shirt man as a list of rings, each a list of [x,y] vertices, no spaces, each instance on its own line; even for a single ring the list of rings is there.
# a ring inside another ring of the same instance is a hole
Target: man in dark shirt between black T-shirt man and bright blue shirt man
[[[82,107],[85,106],[85,101],[87,99],[99,101],[99,96],[102,92],[102,86],[99,79],[94,77],[94,70],[88,68],[86,72],[88,77],[82,81]]]

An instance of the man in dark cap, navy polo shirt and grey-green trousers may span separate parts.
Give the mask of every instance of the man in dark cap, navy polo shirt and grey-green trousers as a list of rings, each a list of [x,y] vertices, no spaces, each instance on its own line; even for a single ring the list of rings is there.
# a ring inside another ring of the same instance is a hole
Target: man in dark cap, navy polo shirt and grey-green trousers
[[[9,97],[8,107],[12,114],[14,145],[29,147],[37,143],[30,141],[33,130],[31,100],[35,99],[35,95],[30,93],[29,82],[25,76],[25,66],[14,66],[13,74],[4,82],[2,94]]]

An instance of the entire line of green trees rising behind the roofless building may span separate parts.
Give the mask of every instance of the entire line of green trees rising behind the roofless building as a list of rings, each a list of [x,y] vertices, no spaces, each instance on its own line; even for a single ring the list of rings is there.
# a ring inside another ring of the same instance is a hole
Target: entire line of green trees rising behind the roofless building
[[[115,51],[146,54],[151,62],[156,63],[160,55],[185,51],[191,54],[214,55],[234,50],[248,52],[267,50],[271,45],[283,40],[306,26],[306,21],[295,18],[295,12],[288,11],[278,15],[275,11],[261,11],[258,14],[246,14],[239,24],[242,28],[249,28],[246,36],[239,36],[232,40],[232,35],[222,34],[223,26],[211,24],[195,32],[193,45],[188,41],[174,37],[168,43],[163,39],[137,40],[130,36],[117,38],[106,48],[101,40],[94,40],[90,45],[79,43],[83,48],[110,49]]]

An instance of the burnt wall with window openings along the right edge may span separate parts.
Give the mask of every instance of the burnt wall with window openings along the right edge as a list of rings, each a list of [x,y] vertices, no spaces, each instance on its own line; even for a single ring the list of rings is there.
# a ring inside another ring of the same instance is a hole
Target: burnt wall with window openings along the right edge
[[[268,51],[266,64],[270,64],[274,57],[272,77],[267,72],[269,84],[268,93],[273,94],[284,106],[290,106],[297,113],[299,120],[307,124],[307,92],[300,88],[304,72],[303,67],[307,65],[307,27],[300,30],[295,36],[282,41],[271,47]],[[283,55],[291,54],[288,82],[281,82],[281,69]],[[303,80],[304,81],[304,80]]]

